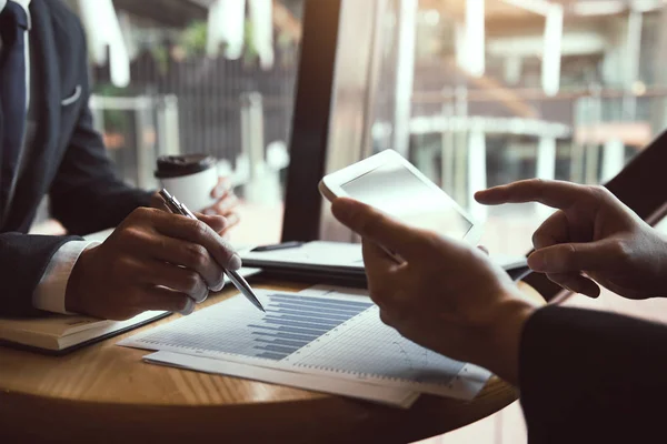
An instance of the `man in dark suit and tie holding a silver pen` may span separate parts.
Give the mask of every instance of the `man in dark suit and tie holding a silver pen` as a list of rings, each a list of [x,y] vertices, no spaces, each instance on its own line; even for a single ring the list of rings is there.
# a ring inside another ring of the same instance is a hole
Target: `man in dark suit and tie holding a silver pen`
[[[76,16],[60,0],[0,0],[0,315],[189,313],[240,266],[218,234],[230,222],[151,209],[153,194],[120,182],[89,97]],[[215,193],[220,213],[231,194]],[[27,234],[47,194],[70,235]],[[79,236],[116,225],[102,244]]]

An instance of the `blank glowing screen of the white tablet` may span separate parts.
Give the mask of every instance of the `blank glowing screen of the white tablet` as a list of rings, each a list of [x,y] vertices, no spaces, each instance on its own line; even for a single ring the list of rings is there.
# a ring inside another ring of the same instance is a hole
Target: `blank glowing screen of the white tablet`
[[[401,164],[385,164],[341,188],[351,198],[411,226],[455,239],[464,239],[472,228],[452,200]]]

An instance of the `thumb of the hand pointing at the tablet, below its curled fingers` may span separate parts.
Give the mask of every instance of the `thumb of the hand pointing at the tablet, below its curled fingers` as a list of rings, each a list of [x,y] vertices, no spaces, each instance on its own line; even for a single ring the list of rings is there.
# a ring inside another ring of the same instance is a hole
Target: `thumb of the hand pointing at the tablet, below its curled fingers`
[[[618,262],[616,241],[561,243],[536,250],[528,258],[528,266],[541,273],[571,273],[600,270]]]

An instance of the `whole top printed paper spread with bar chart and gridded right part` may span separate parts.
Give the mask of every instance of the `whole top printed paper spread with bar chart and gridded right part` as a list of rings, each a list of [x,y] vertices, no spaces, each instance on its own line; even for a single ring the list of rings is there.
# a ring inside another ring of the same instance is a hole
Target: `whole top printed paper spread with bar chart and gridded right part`
[[[368,297],[258,292],[232,297],[119,345],[470,400],[490,373],[428,351],[385,325]]]

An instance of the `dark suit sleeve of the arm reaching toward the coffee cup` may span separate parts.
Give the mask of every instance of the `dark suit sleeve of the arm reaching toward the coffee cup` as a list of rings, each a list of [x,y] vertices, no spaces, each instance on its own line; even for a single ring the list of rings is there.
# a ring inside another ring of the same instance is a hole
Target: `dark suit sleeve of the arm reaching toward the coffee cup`
[[[77,21],[80,41],[73,47],[86,51],[86,39]],[[100,134],[93,128],[88,107],[90,83],[86,58],[79,67],[83,100],[62,163],[50,189],[51,213],[69,233],[89,234],[118,225],[138,206],[150,203],[150,193],[130,188],[116,175]]]

